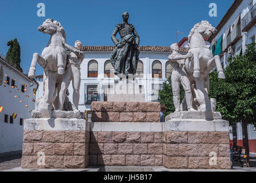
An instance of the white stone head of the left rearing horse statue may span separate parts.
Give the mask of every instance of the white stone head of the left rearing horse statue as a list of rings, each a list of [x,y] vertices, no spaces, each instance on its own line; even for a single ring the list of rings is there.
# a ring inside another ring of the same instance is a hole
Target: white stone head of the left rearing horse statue
[[[53,19],[46,19],[42,25],[40,25],[37,30],[41,31],[44,34],[53,34],[56,31],[60,31],[64,38],[66,38],[66,33],[64,28],[61,26],[61,23],[58,21],[53,21]]]

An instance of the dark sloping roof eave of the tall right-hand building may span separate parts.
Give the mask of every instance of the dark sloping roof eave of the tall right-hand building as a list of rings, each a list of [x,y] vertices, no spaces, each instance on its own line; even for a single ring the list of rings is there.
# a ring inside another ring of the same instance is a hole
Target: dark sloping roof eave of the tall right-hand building
[[[243,0],[235,0],[233,4],[230,6],[229,10],[227,10],[226,14],[223,16],[222,20],[219,22],[219,24],[216,26],[217,32],[215,34],[212,34],[210,38],[208,39],[208,42],[211,42],[212,39],[215,38],[215,36],[219,33],[219,31],[222,29],[222,27],[227,23],[227,21],[230,19],[231,15],[235,12],[235,10],[238,8],[238,6],[243,2]]]

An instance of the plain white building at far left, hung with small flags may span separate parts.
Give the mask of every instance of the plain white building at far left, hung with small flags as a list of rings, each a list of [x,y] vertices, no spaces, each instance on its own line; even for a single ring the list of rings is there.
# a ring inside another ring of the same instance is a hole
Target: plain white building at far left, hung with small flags
[[[0,58],[0,153],[22,150],[23,121],[35,108],[37,82]]]

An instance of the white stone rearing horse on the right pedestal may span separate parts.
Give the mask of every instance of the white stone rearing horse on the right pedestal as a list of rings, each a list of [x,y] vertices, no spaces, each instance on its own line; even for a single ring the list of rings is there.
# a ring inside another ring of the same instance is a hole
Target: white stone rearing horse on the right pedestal
[[[210,71],[216,66],[218,77],[225,78],[219,55],[213,56],[204,40],[204,37],[210,37],[215,32],[216,29],[209,22],[202,21],[196,23],[188,35],[188,53],[193,53],[193,56],[186,60],[186,71],[191,82],[191,90],[196,96],[197,110],[201,111],[211,111],[214,108],[211,107],[211,100],[208,97]],[[194,104],[193,107],[195,106]]]

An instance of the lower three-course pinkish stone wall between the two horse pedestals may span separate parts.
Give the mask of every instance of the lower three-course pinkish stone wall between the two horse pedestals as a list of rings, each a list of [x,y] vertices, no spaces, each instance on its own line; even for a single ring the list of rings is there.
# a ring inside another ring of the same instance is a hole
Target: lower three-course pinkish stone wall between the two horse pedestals
[[[162,132],[92,132],[90,165],[162,166]]]

